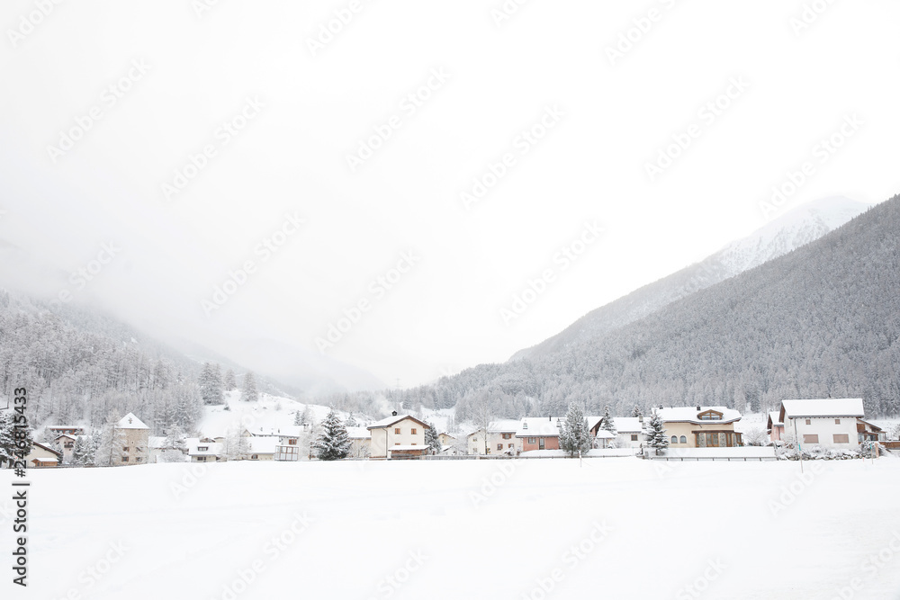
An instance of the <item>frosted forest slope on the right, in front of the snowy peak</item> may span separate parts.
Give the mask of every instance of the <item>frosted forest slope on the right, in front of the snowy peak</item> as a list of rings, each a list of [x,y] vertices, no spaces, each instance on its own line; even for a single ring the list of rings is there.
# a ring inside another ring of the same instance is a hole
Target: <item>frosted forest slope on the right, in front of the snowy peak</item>
[[[532,359],[479,365],[408,402],[486,404],[497,416],[617,414],[637,404],[768,409],[785,398],[862,397],[900,412],[900,197],[788,255],[634,323]]]

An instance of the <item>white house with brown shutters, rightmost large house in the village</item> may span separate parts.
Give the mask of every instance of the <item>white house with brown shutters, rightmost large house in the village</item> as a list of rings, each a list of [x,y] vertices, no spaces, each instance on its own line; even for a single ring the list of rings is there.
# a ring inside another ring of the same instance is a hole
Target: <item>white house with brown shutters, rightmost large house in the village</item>
[[[878,437],[863,416],[859,398],[782,400],[779,411],[784,437],[826,448],[856,448],[867,434]]]

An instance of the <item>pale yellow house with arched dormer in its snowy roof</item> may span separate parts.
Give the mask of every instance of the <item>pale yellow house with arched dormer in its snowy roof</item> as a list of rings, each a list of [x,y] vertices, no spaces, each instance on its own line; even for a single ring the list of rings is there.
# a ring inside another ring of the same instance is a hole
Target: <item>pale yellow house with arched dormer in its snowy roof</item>
[[[657,414],[665,425],[672,448],[731,448],[743,446],[734,424],[741,413],[726,407],[669,407]]]

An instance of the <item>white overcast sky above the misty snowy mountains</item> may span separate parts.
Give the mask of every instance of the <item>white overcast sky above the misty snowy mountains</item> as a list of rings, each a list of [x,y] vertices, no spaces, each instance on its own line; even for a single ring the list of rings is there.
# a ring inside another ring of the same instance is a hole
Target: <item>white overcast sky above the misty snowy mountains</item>
[[[795,0],[531,0],[499,25],[500,0],[199,4],[63,2],[39,19],[34,2],[4,2],[0,240],[59,270],[45,289],[225,354],[259,340],[319,354],[315,338],[370,300],[326,354],[409,386],[504,361],[751,233],[806,160],[815,174],[784,209],[900,190],[893,0],[833,3],[799,33]],[[313,56],[308,40],[351,6]],[[111,106],[104,90],[129,73]],[[738,79],[749,86],[701,118]],[[248,98],[264,107],[224,144],[217,130]],[[54,163],[48,147],[94,106],[102,118]],[[548,110],[554,126],[523,154],[517,137]],[[853,136],[814,158],[854,114]],[[352,172],[347,155],[393,115],[399,128]],[[692,124],[699,137],[652,182],[645,164]],[[162,184],[206,145],[215,156],[166,201]],[[465,207],[460,193],[506,153],[515,164]],[[305,224],[263,260],[255,247],[288,213]],[[586,223],[604,232],[563,270],[554,255]],[[67,273],[110,241],[121,251],[75,290]],[[371,283],[410,252],[378,297]],[[202,300],[247,260],[256,273],[207,316]],[[29,269],[4,277],[47,279]],[[554,281],[505,323],[500,309],[545,269]]]

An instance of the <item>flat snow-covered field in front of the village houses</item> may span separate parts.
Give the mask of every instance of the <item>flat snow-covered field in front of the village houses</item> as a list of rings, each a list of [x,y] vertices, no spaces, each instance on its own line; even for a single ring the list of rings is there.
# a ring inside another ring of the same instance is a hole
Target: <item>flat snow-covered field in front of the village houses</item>
[[[30,587],[10,583],[4,492],[0,589],[40,600],[900,598],[900,460],[805,468],[806,479],[797,462],[634,458],[35,470]],[[10,479],[3,471],[6,490]]]

